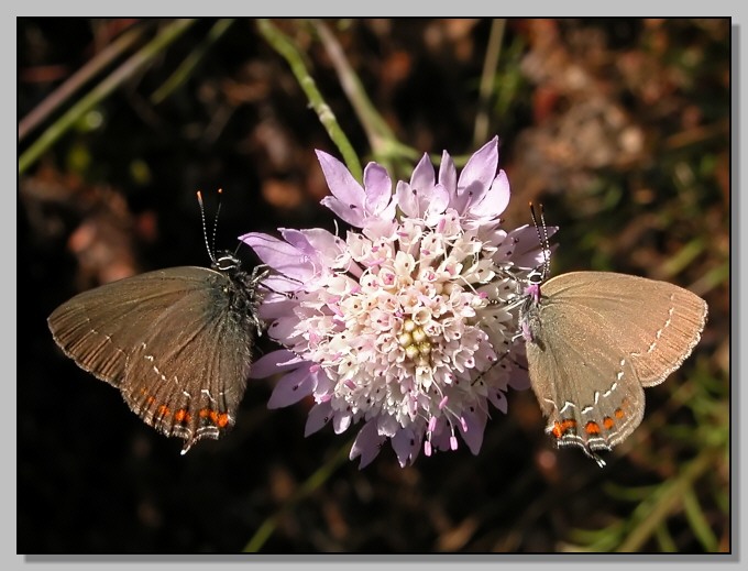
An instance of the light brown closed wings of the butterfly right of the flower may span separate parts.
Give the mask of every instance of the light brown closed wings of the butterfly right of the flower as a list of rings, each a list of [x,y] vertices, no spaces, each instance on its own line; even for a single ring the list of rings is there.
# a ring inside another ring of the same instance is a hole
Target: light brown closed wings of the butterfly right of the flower
[[[706,304],[666,282],[608,272],[562,274],[541,293],[527,315],[532,387],[558,443],[594,457],[639,425],[641,387],[689,356]]]

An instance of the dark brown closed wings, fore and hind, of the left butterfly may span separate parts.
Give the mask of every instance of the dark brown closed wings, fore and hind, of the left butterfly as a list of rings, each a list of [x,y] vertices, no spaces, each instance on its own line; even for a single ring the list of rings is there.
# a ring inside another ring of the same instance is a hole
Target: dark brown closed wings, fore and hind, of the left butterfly
[[[79,294],[48,325],[68,356],[119,387],[146,424],[184,438],[185,452],[233,425],[251,362],[249,309],[241,283],[173,267]]]

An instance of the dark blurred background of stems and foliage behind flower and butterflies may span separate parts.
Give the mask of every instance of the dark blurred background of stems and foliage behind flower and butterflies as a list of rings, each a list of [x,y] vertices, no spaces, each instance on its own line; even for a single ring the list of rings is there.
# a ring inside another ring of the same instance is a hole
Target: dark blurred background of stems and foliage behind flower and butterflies
[[[18,110],[19,290],[35,299],[19,322],[19,552],[732,549],[729,20],[18,19]],[[332,230],[315,149],[409,177],[424,152],[464,160],[494,134],[506,226],[542,202],[554,273],[667,279],[710,305],[604,470],[552,448],[527,391],[477,457],[400,469],[387,446],[360,471],[353,431],[304,438],[310,403],[266,408],[273,380],[250,384],[229,436],[180,457],[48,333],[82,289],[207,265],[197,189],[209,220],[223,189],[227,248]]]

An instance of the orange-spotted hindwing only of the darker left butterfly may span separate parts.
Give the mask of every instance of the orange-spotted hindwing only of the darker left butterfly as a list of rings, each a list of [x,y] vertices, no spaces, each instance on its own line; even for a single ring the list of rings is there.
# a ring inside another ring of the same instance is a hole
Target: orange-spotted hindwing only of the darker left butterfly
[[[122,387],[145,422],[186,440],[183,452],[233,426],[252,360],[254,326],[237,299],[243,293],[213,274],[215,287],[193,292],[155,320],[131,355]]]

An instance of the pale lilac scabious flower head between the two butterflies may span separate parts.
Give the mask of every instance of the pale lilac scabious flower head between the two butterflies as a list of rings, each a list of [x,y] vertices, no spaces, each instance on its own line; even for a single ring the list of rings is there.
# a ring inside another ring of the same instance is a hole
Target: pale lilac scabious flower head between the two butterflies
[[[477,453],[490,404],[506,413],[513,365],[524,354],[507,303],[541,261],[535,230],[501,228],[509,183],[498,140],[458,176],[444,152],[438,172],[424,155],[409,182],[370,163],[363,186],[317,152],[331,196],[322,204],[352,229],[280,229],[241,239],[274,272],[260,308],[284,349],[260,359],[253,377],[283,373],[268,406],[315,400],[306,426],[337,433],[362,424],[351,459],[370,463],[389,439],[400,465],[422,449]]]

